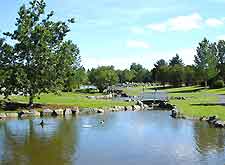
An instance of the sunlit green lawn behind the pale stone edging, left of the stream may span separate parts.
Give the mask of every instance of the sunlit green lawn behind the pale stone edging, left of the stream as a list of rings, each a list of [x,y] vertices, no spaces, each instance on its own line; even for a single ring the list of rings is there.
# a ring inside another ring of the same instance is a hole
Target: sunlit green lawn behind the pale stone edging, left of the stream
[[[48,105],[61,105],[61,106],[78,106],[81,108],[104,108],[113,106],[127,106],[133,103],[123,101],[112,101],[112,100],[95,100],[88,99],[88,95],[99,95],[97,94],[83,94],[83,93],[61,93],[61,95],[54,94],[42,94],[40,99],[35,99],[35,103],[48,104]],[[2,99],[2,98],[1,98]],[[28,97],[24,96],[11,96],[12,102],[17,103],[28,103]]]

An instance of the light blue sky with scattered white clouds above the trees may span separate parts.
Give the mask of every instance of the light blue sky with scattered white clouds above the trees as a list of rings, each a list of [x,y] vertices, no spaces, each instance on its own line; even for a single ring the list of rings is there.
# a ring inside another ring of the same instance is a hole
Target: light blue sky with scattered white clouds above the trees
[[[27,0],[0,5],[0,33],[13,31],[19,7]],[[67,39],[80,48],[85,68],[132,62],[151,69],[178,53],[193,64],[198,43],[225,39],[225,0],[46,0],[56,20],[75,17]]]

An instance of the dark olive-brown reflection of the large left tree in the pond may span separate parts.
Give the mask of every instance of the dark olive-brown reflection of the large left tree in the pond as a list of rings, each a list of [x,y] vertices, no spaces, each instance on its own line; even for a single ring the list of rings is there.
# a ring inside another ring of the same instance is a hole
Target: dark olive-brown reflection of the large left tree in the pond
[[[0,164],[71,164],[76,152],[76,122],[73,119],[12,120],[3,123]],[[73,123],[73,124],[71,124]]]

